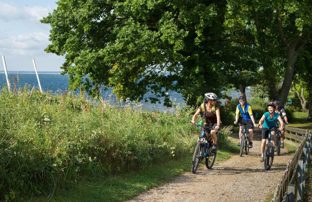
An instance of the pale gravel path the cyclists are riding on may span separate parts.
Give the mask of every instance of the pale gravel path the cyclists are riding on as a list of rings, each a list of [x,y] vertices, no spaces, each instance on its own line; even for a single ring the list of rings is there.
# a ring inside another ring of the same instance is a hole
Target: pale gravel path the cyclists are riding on
[[[215,163],[208,170],[205,161],[197,169],[196,174],[186,172],[175,181],[143,192],[134,200],[128,202],[151,201],[263,201],[267,194],[275,191],[275,187],[285,172],[291,156],[286,148],[281,149],[281,155],[275,152],[270,170],[264,169],[260,163],[261,130],[254,130],[253,148],[249,154],[233,154],[232,158],[222,163]],[[231,135],[239,142],[238,134]],[[190,169],[191,169],[191,162]]]

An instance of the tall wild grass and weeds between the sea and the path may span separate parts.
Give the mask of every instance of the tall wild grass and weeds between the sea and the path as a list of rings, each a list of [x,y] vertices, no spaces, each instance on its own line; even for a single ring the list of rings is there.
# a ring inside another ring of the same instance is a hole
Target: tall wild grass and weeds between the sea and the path
[[[0,90],[0,200],[141,170],[193,152],[191,114],[92,101],[85,94]],[[227,139],[220,131],[220,143]],[[219,143],[219,140],[218,140]],[[219,145],[220,145],[219,143]],[[220,145],[222,146],[222,144]]]

